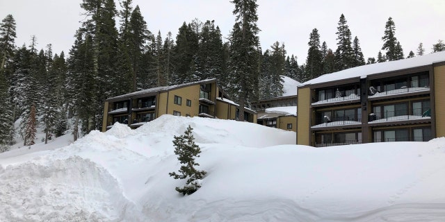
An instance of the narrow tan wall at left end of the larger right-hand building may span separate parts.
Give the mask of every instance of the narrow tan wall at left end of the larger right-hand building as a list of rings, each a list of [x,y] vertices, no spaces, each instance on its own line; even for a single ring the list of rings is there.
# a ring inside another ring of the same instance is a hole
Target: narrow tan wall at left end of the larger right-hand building
[[[298,88],[298,132],[297,144],[310,145],[309,133],[311,128],[311,89],[309,87]]]

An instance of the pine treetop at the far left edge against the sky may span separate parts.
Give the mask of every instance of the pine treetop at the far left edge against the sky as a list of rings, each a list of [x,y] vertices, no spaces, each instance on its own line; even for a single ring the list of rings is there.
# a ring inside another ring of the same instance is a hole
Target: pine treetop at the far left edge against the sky
[[[0,23],[0,74],[5,74],[6,62],[13,57],[15,37],[15,19],[6,15]]]

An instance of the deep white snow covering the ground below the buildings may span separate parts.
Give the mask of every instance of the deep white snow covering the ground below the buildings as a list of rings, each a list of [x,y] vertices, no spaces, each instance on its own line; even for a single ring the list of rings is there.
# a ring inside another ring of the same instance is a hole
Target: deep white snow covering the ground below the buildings
[[[207,175],[182,196],[168,173],[188,125]],[[445,221],[445,138],[312,148],[289,131],[169,115],[71,137],[0,154],[0,221]]]

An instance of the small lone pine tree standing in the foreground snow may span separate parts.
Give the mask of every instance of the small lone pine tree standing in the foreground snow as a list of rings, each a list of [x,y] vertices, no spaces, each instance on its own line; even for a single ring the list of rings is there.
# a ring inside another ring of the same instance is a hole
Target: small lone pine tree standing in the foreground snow
[[[189,125],[184,132],[185,135],[179,137],[174,136],[173,144],[175,146],[175,154],[178,155],[178,160],[182,164],[179,169],[179,174],[176,172],[168,173],[168,175],[175,179],[186,179],[184,187],[176,187],[176,191],[183,195],[190,195],[201,187],[201,179],[207,173],[206,171],[198,171],[195,166],[199,166],[195,162],[195,157],[200,157],[201,149],[194,142],[195,138],[192,134],[193,128]]]

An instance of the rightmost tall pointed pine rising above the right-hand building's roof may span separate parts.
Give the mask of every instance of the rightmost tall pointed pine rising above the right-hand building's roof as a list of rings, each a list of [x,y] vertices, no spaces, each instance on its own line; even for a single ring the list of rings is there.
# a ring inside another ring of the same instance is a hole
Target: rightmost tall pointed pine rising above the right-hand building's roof
[[[386,51],[386,60],[400,60],[403,58],[403,50],[400,42],[396,38],[396,24],[391,17],[389,17],[385,25],[385,35],[382,37],[382,50]]]

